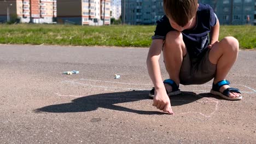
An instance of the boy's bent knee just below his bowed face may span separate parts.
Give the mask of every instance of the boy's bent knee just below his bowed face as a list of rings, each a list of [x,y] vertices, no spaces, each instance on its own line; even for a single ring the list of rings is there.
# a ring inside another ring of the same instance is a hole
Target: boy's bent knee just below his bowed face
[[[166,44],[182,44],[183,43],[183,37],[182,33],[178,31],[170,31],[166,34],[165,38],[165,43]]]

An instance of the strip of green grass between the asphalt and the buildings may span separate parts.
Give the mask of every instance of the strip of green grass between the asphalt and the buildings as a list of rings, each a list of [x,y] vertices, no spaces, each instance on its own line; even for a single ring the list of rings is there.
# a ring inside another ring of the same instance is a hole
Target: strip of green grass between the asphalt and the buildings
[[[155,26],[0,25],[1,44],[149,47]],[[233,36],[256,47],[255,26],[221,26],[220,39]]]

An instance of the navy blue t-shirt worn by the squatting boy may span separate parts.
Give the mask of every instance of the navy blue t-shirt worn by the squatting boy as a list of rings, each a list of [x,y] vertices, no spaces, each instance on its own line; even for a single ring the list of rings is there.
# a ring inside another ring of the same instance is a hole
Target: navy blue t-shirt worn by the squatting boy
[[[210,5],[199,4],[196,20],[196,26],[193,29],[182,31],[183,41],[191,58],[201,57],[200,53],[207,49],[210,41],[208,33],[211,31],[211,27],[216,25],[217,16]],[[168,32],[176,31],[170,25],[166,15],[156,23],[155,35],[153,35],[152,39],[165,39]]]

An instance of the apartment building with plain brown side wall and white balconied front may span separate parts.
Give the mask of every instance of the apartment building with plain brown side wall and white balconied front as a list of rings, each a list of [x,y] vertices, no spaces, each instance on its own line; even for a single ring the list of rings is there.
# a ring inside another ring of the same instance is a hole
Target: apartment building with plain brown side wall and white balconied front
[[[57,22],[110,25],[110,0],[58,0]]]

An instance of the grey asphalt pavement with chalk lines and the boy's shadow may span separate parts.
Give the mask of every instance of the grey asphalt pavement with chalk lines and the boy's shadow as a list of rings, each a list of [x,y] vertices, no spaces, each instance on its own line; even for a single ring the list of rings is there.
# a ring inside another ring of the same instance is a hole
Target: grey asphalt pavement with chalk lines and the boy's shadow
[[[242,100],[210,94],[212,81],[181,85],[174,115],[148,97],[147,52],[0,45],[0,143],[256,143],[256,51],[240,50],[226,77]]]

